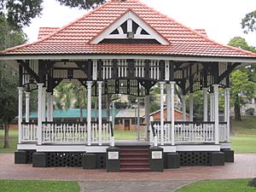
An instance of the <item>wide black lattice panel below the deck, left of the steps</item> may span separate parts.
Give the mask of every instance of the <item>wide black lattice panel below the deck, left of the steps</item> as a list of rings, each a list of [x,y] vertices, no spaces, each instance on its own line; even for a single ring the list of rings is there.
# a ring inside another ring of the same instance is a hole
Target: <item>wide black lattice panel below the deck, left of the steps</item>
[[[47,153],[47,166],[82,166],[84,152],[54,152]]]

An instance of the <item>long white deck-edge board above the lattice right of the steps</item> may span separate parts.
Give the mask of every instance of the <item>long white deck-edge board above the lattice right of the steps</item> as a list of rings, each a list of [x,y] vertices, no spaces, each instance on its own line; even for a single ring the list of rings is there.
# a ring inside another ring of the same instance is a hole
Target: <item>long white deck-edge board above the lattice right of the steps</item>
[[[220,145],[177,145],[177,151],[220,151]]]

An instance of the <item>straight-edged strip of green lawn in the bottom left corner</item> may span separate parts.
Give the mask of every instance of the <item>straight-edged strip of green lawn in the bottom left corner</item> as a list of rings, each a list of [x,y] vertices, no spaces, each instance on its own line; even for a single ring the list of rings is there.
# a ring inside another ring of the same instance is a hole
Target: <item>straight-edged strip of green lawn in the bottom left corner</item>
[[[79,192],[79,183],[63,181],[0,180],[1,192]]]

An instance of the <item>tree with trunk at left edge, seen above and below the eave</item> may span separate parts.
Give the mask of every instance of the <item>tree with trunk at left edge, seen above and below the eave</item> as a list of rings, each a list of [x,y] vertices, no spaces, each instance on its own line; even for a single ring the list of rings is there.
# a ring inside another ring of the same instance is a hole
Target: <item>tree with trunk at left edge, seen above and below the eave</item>
[[[26,35],[10,26],[0,17],[0,49],[26,43]],[[0,61],[0,119],[4,127],[4,146],[9,148],[9,124],[18,112],[18,75],[14,69]]]

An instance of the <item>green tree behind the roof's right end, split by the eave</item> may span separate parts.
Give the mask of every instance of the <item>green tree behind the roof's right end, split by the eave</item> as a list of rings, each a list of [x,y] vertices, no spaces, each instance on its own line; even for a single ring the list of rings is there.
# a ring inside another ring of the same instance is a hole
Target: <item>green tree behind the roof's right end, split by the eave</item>
[[[241,37],[232,38],[230,40],[229,45],[256,52],[256,49],[254,47],[247,44],[245,38],[241,38]],[[256,92],[255,84],[253,84],[253,82],[249,80],[249,79],[253,79],[254,75],[255,74],[251,69],[247,70],[247,67],[237,69],[235,72],[231,73],[231,77],[230,77],[230,85],[232,88],[231,102],[234,104],[236,120],[241,120],[240,108],[242,105],[245,104],[243,102],[242,97],[247,97],[249,99]]]

